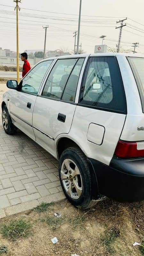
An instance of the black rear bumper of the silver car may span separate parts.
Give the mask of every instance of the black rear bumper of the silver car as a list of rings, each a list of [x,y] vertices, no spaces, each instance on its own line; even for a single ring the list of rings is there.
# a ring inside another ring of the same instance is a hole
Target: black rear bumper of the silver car
[[[144,158],[113,158],[109,166],[92,158],[89,160],[97,177],[100,194],[119,202],[144,200]]]

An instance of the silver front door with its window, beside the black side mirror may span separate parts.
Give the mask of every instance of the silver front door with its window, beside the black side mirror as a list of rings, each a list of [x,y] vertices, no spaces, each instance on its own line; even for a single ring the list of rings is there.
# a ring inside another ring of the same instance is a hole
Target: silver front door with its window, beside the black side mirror
[[[32,113],[42,80],[52,60],[37,64],[20,82],[20,91],[11,90],[10,114],[13,124],[32,139],[36,139],[32,127]]]

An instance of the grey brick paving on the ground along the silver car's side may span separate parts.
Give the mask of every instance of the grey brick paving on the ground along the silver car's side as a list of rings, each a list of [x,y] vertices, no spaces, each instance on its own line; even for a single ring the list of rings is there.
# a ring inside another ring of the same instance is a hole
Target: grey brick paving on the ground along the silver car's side
[[[0,103],[6,90],[0,84]],[[0,116],[0,218],[65,198],[57,168],[58,161],[24,133],[7,135]]]

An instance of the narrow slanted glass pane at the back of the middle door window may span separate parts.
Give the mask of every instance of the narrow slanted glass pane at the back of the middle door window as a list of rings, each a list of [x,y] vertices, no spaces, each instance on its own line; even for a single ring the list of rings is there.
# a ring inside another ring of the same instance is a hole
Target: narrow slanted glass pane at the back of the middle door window
[[[72,73],[70,74],[68,78],[68,82],[65,86],[65,89],[62,95],[62,100],[72,101],[72,102],[75,101],[78,79],[79,79],[79,75],[80,75],[83,63],[84,63],[84,58],[80,58],[76,62],[76,65]]]

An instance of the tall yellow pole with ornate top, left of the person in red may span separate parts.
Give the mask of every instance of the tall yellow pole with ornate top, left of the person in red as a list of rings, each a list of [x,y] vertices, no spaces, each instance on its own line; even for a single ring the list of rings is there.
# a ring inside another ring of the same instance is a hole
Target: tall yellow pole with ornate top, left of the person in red
[[[18,24],[18,10],[20,11],[20,7],[18,3],[21,3],[21,0],[13,0],[16,3],[16,14],[17,14],[17,81],[20,82],[20,73],[19,73],[19,24]]]

